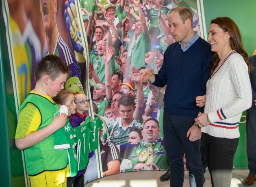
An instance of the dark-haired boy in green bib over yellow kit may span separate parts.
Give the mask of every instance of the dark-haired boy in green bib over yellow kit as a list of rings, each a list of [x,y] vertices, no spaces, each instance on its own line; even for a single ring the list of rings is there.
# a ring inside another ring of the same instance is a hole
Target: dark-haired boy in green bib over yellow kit
[[[44,57],[35,70],[35,89],[19,109],[15,144],[24,149],[32,187],[65,185],[69,174],[67,150],[54,149],[54,132],[65,126],[67,116],[59,115],[60,108],[52,100],[64,88],[68,74],[69,67],[61,58]]]

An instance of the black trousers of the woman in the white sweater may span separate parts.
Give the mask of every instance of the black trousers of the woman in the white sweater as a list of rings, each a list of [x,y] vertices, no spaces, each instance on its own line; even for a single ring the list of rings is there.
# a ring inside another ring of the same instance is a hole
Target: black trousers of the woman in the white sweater
[[[217,138],[205,134],[205,156],[212,179],[212,186],[229,187],[233,159],[239,138]]]

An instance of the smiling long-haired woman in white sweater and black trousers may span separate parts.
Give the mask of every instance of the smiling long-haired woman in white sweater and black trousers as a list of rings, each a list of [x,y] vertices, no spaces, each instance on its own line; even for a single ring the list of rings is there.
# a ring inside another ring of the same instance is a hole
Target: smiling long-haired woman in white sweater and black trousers
[[[211,50],[216,54],[206,95],[200,97],[201,103],[198,98],[196,101],[200,107],[205,104],[204,114],[198,114],[195,123],[202,125],[206,133],[205,154],[212,185],[227,187],[240,136],[239,121],[242,112],[252,105],[250,66],[239,28],[232,19],[213,19],[208,33]]]

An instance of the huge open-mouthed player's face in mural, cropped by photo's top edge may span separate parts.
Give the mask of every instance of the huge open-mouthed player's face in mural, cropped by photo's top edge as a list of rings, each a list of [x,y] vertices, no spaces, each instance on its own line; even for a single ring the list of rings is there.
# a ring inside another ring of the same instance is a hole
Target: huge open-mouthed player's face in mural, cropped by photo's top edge
[[[40,11],[43,20],[43,27],[47,34],[52,31],[53,27],[56,27],[57,1],[40,0]]]

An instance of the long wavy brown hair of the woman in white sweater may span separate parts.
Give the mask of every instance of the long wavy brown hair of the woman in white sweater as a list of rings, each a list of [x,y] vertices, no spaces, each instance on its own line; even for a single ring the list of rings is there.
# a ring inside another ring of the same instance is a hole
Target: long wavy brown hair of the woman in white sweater
[[[235,50],[238,52],[241,56],[243,56],[243,59],[245,60],[247,66],[248,66],[248,72],[250,73],[251,68],[249,64],[249,56],[243,49],[243,42],[242,37],[239,31],[238,26],[235,24],[235,22],[230,19],[229,17],[217,17],[210,21],[210,24],[217,24],[224,32],[228,32],[230,35],[230,47],[232,50]],[[217,53],[212,58],[212,66],[210,68],[210,75],[213,74],[214,70],[216,69],[217,65],[219,63],[219,56]]]

